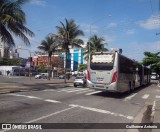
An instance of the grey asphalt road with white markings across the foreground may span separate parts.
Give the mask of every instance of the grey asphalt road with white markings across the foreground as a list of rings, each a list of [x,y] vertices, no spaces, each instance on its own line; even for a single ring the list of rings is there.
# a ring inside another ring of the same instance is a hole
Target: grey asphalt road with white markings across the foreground
[[[41,84],[39,87],[42,87]],[[141,87],[130,94],[95,92],[89,88],[48,84],[44,89],[37,91],[0,94],[0,122],[149,123],[150,120],[145,119],[144,113],[149,111],[148,108],[151,108],[154,100],[158,98],[160,98],[160,88],[156,84]],[[129,130],[48,129],[42,131],[124,132]]]

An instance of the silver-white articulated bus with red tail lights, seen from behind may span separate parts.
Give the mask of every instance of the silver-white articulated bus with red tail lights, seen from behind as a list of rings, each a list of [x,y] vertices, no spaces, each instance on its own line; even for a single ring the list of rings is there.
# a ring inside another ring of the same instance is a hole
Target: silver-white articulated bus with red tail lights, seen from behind
[[[117,50],[95,52],[88,61],[87,82],[96,90],[123,93],[149,84],[150,70]]]

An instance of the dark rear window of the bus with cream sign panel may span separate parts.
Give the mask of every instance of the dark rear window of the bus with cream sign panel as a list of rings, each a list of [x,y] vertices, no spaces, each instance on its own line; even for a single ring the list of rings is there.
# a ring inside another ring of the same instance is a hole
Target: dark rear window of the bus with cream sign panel
[[[112,70],[114,59],[114,53],[91,54],[90,68],[92,70]]]

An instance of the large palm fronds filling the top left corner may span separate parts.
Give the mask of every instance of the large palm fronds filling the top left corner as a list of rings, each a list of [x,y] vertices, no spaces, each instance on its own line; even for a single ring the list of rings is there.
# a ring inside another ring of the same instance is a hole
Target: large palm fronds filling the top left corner
[[[15,46],[12,34],[22,39],[26,45],[30,45],[26,35],[34,36],[34,33],[24,26],[25,13],[21,6],[28,0],[0,0],[0,41],[8,46]]]

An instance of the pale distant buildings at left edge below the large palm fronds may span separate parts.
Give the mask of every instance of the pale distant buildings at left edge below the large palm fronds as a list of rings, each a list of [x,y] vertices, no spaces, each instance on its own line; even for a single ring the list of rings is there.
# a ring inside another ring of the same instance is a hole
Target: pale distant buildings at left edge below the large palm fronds
[[[0,58],[19,58],[19,53],[17,50],[14,50],[13,48],[5,46],[3,43],[0,43]]]

